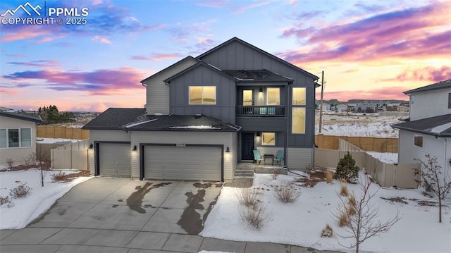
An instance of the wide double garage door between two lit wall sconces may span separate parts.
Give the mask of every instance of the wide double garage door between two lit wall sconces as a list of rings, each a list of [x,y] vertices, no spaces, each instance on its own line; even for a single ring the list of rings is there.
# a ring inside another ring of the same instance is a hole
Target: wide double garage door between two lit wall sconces
[[[221,149],[145,146],[144,178],[221,181]]]

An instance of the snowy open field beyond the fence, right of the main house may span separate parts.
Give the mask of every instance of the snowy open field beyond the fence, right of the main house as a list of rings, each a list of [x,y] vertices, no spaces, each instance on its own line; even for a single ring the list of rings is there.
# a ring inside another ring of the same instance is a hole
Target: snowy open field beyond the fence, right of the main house
[[[319,133],[319,113],[315,134]],[[390,125],[402,123],[401,116],[378,116],[378,113],[323,113],[321,133],[335,136],[397,138],[397,130]]]

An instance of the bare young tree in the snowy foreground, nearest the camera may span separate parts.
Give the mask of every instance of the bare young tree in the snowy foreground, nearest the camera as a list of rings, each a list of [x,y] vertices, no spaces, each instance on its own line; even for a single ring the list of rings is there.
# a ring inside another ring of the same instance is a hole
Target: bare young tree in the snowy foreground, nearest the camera
[[[333,214],[335,221],[341,223],[345,233],[347,233],[347,235],[337,234],[338,237],[354,239],[354,242],[349,246],[342,245],[337,238],[338,243],[349,249],[355,247],[355,252],[357,253],[359,252],[360,245],[366,239],[388,232],[391,226],[400,220],[400,213],[397,211],[394,218],[385,222],[379,221],[379,208],[371,203],[371,199],[373,199],[378,191],[369,192],[371,180],[369,180],[367,175],[365,175],[364,182],[361,180],[359,184],[362,189],[361,197],[357,199],[354,193],[347,197],[338,195],[340,202],[338,203],[337,212]]]

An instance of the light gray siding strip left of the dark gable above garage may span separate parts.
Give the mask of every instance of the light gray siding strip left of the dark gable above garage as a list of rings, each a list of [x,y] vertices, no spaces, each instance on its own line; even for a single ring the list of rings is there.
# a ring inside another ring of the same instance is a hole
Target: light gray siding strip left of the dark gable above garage
[[[175,63],[160,73],[149,78],[144,82],[147,85],[146,89],[146,111],[147,114],[162,113],[169,114],[169,86],[166,85],[164,80],[171,78],[171,76],[180,73],[181,71],[189,68],[197,63],[194,58],[186,58],[185,60]]]

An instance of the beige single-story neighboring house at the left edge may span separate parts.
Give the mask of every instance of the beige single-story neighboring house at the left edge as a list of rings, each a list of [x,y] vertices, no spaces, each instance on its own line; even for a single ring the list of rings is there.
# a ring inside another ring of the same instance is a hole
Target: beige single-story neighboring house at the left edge
[[[36,152],[36,123],[42,119],[37,114],[24,113],[0,107],[0,165],[25,163]]]

